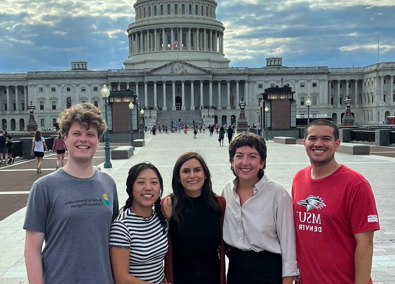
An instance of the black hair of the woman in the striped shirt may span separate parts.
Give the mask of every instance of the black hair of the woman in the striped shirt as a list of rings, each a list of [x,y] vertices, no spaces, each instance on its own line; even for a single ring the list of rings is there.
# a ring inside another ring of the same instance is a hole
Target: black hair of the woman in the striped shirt
[[[125,206],[121,208],[121,211],[125,212],[129,208],[132,208],[132,205],[133,205],[133,194],[132,194],[133,193],[133,184],[136,181],[139,174],[145,169],[152,169],[156,173],[156,175],[158,176],[158,179],[159,179],[160,193],[159,193],[158,200],[156,200],[154,203],[154,209],[155,209],[156,215],[158,215],[158,217],[159,217],[160,224],[162,224],[162,226],[163,226],[164,233],[166,234],[166,226],[167,226],[166,217],[160,210],[160,197],[162,196],[162,193],[163,193],[163,179],[159,173],[159,170],[154,165],[152,165],[150,162],[139,163],[129,169],[128,179],[126,179],[126,192],[128,193],[129,197],[126,200]]]

